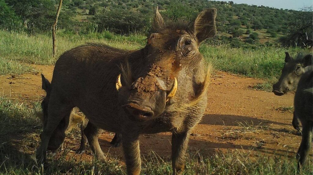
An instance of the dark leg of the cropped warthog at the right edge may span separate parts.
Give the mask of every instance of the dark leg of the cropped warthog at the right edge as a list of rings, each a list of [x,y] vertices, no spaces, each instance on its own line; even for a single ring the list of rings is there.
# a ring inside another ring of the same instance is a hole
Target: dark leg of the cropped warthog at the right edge
[[[302,140],[296,155],[296,158],[299,160],[298,169],[305,163],[306,158],[309,155],[311,149],[312,142],[312,130],[313,130],[313,122],[306,121],[302,123]]]

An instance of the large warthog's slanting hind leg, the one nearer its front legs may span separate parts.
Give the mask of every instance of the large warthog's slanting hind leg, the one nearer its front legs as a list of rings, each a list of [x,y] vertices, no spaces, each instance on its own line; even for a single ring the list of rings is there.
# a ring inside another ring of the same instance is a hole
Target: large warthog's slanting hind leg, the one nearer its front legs
[[[84,130],[84,133],[87,137],[88,143],[92,152],[95,154],[95,157],[98,158],[101,162],[107,163],[106,158],[103,155],[102,149],[99,145],[98,141],[98,128],[94,124],[90,123],[87,124],[87,127]]]

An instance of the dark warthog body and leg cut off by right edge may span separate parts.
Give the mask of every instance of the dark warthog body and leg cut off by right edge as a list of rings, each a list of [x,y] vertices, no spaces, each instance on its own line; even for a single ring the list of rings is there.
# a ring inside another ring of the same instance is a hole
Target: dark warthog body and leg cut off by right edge
[[[298,169],[305,163],[312,147],[313,130],[313,66],[309,66],[299,80],[297,91],[295,92],[295,112],[302,124],[302,140],[296,158],[299,160]]]

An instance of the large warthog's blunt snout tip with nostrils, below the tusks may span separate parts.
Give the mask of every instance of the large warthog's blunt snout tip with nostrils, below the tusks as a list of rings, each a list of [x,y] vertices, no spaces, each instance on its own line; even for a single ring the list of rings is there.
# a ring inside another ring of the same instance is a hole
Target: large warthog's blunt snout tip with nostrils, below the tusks
[[[133,121],[146,121],[154,116],[154,112],[149,107],[141,107],[136,103],[129,103],[122,107]]]

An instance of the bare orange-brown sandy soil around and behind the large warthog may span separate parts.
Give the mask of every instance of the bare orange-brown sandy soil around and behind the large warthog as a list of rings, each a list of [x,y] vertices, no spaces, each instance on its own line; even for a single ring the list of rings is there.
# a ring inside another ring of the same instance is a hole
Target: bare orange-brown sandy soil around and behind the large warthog
[[[41,69],[45,77],[51,80],[53,66],[33,66]],[[238,149],[294,157],[301,135],[291,125],[292,112],[282,108],[293,106],[294,93],[278,97],[271,92],[251,88],[261,81],[225,72],[213,75],[206,115],[192,131],[189,149],[208,155]],[[40,74],[0,76],[0,93],[27,103],[40,101],[45,96]],[[120,157],[122,148],[112,147],[112,138],[113,133],[104,132],[100,135],[100,145],[105,153]],[[91,157],[90,150],[84,155],[74,154],[79,148],[79,139],[66,139],[65,143],[73,150],[70,153],[72,156]],[[140,144],[143,155],[151,153],[151,150],[164,158],[171,155],[171,133],[141,135]]]

